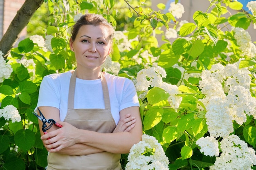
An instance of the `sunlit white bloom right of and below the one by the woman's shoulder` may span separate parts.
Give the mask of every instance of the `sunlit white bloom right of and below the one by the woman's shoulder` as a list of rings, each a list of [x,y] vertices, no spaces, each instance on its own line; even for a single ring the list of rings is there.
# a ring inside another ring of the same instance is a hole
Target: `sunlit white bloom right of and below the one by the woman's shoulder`
[[[168,102],[170,106],[172,106],[173,108],[179,108],[182,97],[177,95],[181,93],[178,87],[176,85],[168,84],[166,82],[162,82],[159,87],[170,94],[170,97],[168,97]]]

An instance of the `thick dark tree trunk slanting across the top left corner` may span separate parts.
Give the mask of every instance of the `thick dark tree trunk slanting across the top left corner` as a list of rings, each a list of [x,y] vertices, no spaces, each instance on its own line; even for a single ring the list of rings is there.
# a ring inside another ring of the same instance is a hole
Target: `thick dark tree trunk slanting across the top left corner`
[[[36,10],[43,4],[44,0],[25,0],[16,16],[11,21],[6,33],[0,40],[0,51],[4,53],[4,59],[9,55],[11,48],[17,42],[21,31],[27,26],[30,18]]]

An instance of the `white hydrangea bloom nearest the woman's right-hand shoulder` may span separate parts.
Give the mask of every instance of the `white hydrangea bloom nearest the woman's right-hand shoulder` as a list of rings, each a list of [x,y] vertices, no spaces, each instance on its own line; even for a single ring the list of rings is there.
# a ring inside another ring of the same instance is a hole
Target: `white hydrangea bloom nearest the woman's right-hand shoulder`
[[[137,83],[135,87],[137,91],[148,91],[148,87],[159,87],[162,84],[162,78],[166,77],[164,68],[155,66],[144,68],[137,74]]]

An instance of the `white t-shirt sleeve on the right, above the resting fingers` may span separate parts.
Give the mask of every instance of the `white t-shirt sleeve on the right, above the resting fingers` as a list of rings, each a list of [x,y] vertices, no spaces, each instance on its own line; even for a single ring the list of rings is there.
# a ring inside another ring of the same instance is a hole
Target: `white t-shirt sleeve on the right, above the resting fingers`
[[[130,79],[126,79],[120,103],[120,111],[124,108],[132,106],[139,106],[139,100],[135,89],[135,85],[132,83]]]

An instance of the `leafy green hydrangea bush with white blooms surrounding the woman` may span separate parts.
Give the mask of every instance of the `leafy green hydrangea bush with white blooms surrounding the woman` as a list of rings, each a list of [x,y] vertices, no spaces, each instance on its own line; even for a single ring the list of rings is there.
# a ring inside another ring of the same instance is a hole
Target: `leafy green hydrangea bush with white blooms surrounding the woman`
[[[46,10],[45,27],[7,60],[0,52],[0,170],[47,165],[32,111],[45,75],[76,68],[68,38],[86,12],[116,28],[102,70],[131,79],[139,96],[144,135],[122,155],[123,169],[256,169],[256,47],[247,31],[256,29],[256,1],[249,11],[236,0],[208,1],[188,22],[178,0],[159,11],[150,0],[45,0],[31,20]]]

